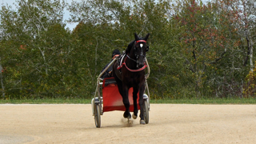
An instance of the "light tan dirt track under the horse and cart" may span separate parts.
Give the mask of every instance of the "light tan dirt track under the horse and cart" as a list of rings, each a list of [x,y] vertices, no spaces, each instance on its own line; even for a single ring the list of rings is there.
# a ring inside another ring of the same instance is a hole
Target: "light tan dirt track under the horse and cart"
[[[0,143],[255,143],[256,105],[151,104],[150,122],[122,111],[96,128],[90,105],[0,105]]]

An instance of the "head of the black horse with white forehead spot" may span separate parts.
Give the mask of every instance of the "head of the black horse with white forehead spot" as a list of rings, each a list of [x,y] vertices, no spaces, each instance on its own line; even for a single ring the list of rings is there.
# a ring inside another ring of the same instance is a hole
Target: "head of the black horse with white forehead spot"
[[[137,67],[141,68],[144,66],[144,60],[146,58],[146,51],[149,50],[149,47],[146,46],[146,41],[149,38],[150,34],[146,34],[145,38],[139,38],[138,34],[134,33],[134,43],[133,46],[128,46],[128,50],[130,49],[130,53],[134,54],[135,61],[137,62]]]

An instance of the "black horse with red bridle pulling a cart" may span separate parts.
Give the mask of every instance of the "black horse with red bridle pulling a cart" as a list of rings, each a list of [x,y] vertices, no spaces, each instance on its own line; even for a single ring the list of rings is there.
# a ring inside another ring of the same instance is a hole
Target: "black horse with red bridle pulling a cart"
[[[124,118],[131,118],[130,115],[130,102],[128,99],[128,90],[130,87],[134,88],[133,100],[134,100],[134,114],[133,118],[138,116],[137,98],[139,92],[138,103],[140,106],[140,123],[146,124],[144,120],[144,107],[143,107],[143,94],[145,90],[145,58],[146,51],[149,47],[146,46],[146,40],[150,34],[146,34],[145,38],[139,38],[135,33],[135,40],[131,42],[126,49],[126,54],[122,58],[121,62],[114,62],[113,74],[116,82],[118,83],[119,93],[122,95],[122,102],[126,107],[126,111],[123,114]]]

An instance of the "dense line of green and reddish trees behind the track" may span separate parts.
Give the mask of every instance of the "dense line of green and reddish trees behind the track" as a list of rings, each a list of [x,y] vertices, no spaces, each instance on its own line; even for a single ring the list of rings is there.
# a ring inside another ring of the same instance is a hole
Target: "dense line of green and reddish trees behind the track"
[[[135,32],[150,33],[151,98],[255,97],[251,0],[19,0],[0,14],[2,99],[92,98]]]

